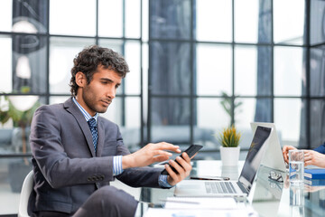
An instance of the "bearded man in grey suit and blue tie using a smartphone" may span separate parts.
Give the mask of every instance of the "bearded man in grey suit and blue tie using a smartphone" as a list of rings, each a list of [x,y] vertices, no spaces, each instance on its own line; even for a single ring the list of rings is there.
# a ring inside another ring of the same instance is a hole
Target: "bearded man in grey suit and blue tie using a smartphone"
[[[109,183],[170,188],[190,174],[185,153],[165,168],[149,167],[169,159],[179,146],[148,144],[130,154],[117,125],[98,113],[107,111],[126,72],[125,59],[97,45],[79,52],[71,69],[71,98],[37,109],[30,142],[34,188],[32,216],[134,216],[137,201]]]

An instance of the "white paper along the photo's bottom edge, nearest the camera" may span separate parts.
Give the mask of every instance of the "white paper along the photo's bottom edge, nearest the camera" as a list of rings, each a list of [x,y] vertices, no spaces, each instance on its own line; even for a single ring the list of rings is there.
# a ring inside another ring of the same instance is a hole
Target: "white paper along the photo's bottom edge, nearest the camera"
[[[149,208],[145,212],[144,217],[257,217],[256,212],[250,212],[249,210],[176,210],[176,209],[156,209]]]

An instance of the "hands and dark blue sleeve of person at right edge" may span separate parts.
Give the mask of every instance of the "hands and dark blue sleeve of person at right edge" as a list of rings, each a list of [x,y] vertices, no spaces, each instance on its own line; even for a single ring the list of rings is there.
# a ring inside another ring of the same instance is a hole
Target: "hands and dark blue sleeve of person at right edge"
[[[297,149],[294,146],[283,146],[283,158],[289,163],[289,150]],[[304,165],[317,165],[325,167],[325,143],[313,150],[303,150]]]

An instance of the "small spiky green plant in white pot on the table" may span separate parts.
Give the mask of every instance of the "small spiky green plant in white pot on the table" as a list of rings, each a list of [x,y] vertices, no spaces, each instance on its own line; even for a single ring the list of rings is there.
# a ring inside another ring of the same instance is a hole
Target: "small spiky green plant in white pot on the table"
[[[223,166],[237,165],[240,153],[240,137],[241,133],[232,125],[223,129],[218,136],[220,143],[220,156]]]

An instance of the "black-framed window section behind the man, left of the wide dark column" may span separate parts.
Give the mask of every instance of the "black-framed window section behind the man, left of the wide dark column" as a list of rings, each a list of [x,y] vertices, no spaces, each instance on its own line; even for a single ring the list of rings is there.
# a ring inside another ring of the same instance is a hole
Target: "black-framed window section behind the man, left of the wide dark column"
[[[141,14],[140,0],[1,1],[0,214],[17,213],[23,178],[32,170],[33,111],[70,97],[73,58],[88,45],[125,56],[131,72],[103,116],[121,127],[131,150],[141,146]]]

